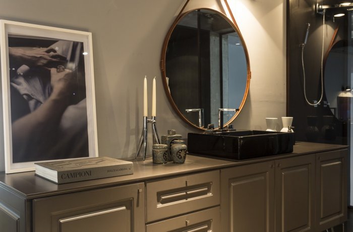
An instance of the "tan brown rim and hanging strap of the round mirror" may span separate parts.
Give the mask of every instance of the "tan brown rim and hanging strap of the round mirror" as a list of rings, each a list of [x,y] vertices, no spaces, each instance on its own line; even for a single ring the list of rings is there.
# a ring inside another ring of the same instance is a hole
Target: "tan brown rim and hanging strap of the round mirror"
[[[173,101],[172,97],[171,97],[171,94],[169,92],[169,88],[168,88],[168,84],[167,84],[167,80],[166,80],[166,70],[165,70],[165,60],[166,60],[166,50],[167,50],[167,46],[168,46],[168,41],[170,39],[170,36],[173,32],[173,30],[175,29],[175,27],[177,26],[177,24],[179,23],[179,21],[184,17],[186,16],[187,14],[195,11],[195,10],[199,10],[199,9],[193,9],[193,10],[190,10],[190,11],[187,11],[187,12],[184,12],[184,9],[186,7],[186,5],[188,4],[189,0],[187,0],[187,2],[185,3],[184,7],[182,8],[181,12],[179,13],[179,15],[177,16],[177,18],[174,20],[172,26],[170,27],[168,33],[166,34],[165,36],[165,39],[164,39],[164,43],[163,43],[163,48],[162,48],[162,52],[161,52],[161,60],[160,60],[160,69],[161,69],[161,73],[162,73],[162,82],[163,82],[163,87],[164,87],[164,91],[165,91],[165,94],[169,100],[169,103],[170,105],[172,106],[172,108],[174,109],[174,111],[186,122],[188,123],[189,125],[191,125],[192,127],[196,128],[196,129],[202,129],[202,130],[205,130],[205,128],[201,128],[201,127],[198,127],[196,126],[195,124],[193,124],[192,122],[190,122],[183,114],[182,112],[179,110],[178,106],[175,104],[175,102]],[[224,126],[227,126],[228,124],[230,124],[238,115],[239,113],[241,112],[242,108],[244,107],[245,105],[245,101],[247,99],[247,96],[248,96],[248,92],[249,92],[249,86],[250,86],[250,79],[251,79],[251,69],[250,69],[250,60],[249,60],[249,53],[248,53],[248,49],[247,49],[247,46],[246,46],[246,43],[244,41],[244,38],[238,28],[238,25],[234,19],[234,16],[233,14],[231,13],[231,10],[229,8],[229,5],[227,3],[226,0],[224,0],[224,3],[225,3],[225,6],[227,8],[227,11],[229,12],[229,15],[231,17],[231,20],[222,12],[219,12],[219,11],[216,11],[214,9],[209,9],[209,8],[200,8],[202,10],[210,10],[210,11],[215,11],[217,13],[219,13],[226,21],[228,21],[228,23],[233,27],[233,29],[238,33],[239,35],[239,38],[242,42],[242,45],[243,45],[243,48],[244,48],[244,54],[245,54],[245,57],[246,57],[246,63],[247,63],[247,82],[246,82],[246,89],[245,89],[245,93],[244,93],[244,97],[243,97],[243,100],[240,104],[240,107],[239,107],[239,111],[234,114],[234,116],[226,123],[224,123]]]

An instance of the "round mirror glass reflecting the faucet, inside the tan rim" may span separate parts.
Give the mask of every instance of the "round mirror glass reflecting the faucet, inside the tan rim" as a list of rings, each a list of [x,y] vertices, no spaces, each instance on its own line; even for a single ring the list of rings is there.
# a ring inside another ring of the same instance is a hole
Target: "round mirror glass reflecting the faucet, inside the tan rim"
[[[198,9],[179,17],[166,36],[161,62],[168,99],[190,125],[227,125],[243,108],[249,56],[238,28],[222,13]]]

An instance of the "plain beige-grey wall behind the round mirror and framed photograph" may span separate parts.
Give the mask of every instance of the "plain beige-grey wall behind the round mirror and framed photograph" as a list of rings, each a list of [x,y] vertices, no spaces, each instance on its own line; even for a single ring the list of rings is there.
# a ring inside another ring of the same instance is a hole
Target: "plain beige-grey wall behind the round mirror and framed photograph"
[[[190,2],[195,7],[215,5],[210,0]],[[248,46],[252,70],[248,100],[233,124],[266,129],[265,117],[285,115],[285,1],[228,2]],[[186,137],[193,130],[169,106],[159,70],[164,36],[183,4],[184,0],[2,0],[0,18],[92,32],[99,156],[130,158],[141,133],[145,75],[149,99],[157,76],[159,135],[173,128]]]

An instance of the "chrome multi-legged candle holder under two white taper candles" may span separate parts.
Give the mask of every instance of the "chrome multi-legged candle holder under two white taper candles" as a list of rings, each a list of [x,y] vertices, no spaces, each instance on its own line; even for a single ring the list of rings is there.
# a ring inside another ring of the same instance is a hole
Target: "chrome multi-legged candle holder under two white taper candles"
[[[147,151],[147,132],[148,132],[148,124],[151,123],[152,125],[152,136],[153,136],[153,144],[160,144],[157,126],[156,126],[156,117],[152,116],[151,119],[148,119],[146,116],[143,117],[143,126],[142,126],[142,133],[139,141],[139,145],[137,147],[136,152],[136,159],[140,154],[141,147],[143,145],[143,160],[146,159],[146,151]]]

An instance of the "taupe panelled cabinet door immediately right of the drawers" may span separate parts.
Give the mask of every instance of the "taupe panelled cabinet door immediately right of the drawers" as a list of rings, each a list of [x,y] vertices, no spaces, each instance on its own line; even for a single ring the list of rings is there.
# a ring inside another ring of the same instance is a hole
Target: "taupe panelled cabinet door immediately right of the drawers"
[[[221,170],[221,231],[274,231],[274,162]]]

